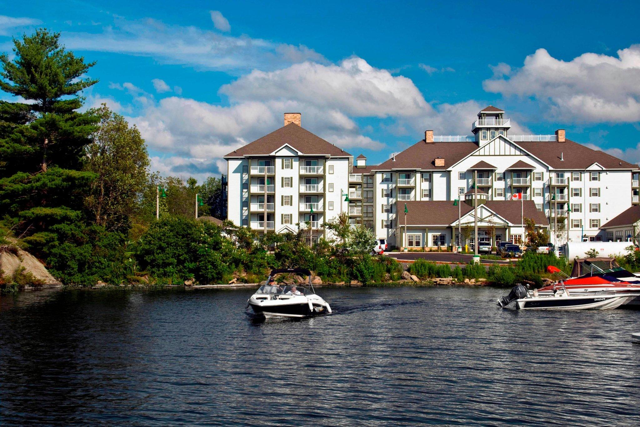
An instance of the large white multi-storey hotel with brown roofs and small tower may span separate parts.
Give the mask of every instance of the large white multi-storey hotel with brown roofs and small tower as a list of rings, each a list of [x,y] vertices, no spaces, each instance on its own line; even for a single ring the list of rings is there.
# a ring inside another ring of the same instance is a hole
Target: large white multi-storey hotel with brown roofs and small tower
[[[468,237],[477,200],[480,236],[492,226],[496,241],[518,242],[524,217],[562,244],[606,240],[602,225],[638,203],[638,165],[568,140],[563,129],[514,135],[510,127],[488,106],[469,136],[428,130],[368,165],[301,127],[300,113],[285,113],[284,127],[224,157],[228,220],[263,232],[301,227],[318,239],[330,237],[324,223],[348,213],[392,246],[433,248]]]

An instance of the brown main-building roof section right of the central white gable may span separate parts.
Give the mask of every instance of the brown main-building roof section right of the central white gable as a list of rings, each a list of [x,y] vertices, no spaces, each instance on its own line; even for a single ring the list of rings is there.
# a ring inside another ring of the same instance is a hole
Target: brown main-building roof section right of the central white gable
[[[638,165],[628,163],[604,151],[592,150],[575,141],[566,142],[516,142],[541,161],[554,169],[586,169],[598,163],[605,169],[637,169]],[[563,157],[564,161],[560,158]]]

